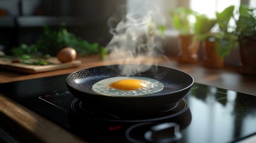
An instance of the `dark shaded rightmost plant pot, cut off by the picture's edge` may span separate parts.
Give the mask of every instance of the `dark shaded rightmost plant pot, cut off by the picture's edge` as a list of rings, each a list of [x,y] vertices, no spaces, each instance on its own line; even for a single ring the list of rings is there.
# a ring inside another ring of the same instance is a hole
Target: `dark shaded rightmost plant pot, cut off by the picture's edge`
[[[239,41],[241,65],[239,72],[256,75],[256,41]]]

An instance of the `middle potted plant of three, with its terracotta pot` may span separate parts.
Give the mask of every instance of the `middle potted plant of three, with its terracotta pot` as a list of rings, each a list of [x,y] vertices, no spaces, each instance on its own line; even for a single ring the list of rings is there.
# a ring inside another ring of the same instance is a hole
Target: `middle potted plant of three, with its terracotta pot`
[[[216,33],[208,33],[203,36],[203,48],[205,59],[203,66],[220,68],[224,65],[224,57],[229,55],[233,48],[238,46],[238,37],[233,30],[230,31],[229,22],[233,17],[234,6],[227,7],[221,13],[216,13],[216,22],[219,30]]]

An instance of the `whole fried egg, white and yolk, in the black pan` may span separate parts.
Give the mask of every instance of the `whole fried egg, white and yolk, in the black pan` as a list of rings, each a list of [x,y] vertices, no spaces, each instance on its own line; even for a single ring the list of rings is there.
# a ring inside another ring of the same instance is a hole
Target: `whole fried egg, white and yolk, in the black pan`
[[[162,91],[164,84],[156,79],[137,76],[110,77],[100,80],[92,85],[92,91],[96,94],[117,96],[141,96]]]

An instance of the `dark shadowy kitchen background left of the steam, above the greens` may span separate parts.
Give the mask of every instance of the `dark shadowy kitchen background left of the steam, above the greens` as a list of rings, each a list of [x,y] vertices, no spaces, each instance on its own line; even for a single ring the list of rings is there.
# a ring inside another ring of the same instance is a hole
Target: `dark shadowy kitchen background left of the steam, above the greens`
[[[110,41],[109,17],[125,14],[124,0],[0,0],[0,49],[8,52],[20,43],[31,44],[42,26],[58,29],[106,45]]]

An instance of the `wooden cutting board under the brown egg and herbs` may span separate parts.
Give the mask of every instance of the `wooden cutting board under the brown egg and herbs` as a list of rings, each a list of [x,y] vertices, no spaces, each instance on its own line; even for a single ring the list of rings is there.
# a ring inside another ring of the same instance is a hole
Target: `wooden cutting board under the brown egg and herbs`
[[[23,64],[23,63],[12,63],[11,58],[0,57],[0,68],[6,69],[6,70],[18,71],[21,73],[41,73],[45,71],[76,67],[82,63],[79,60],[71,61],[68,63],[61,63],[55,57],[49,58],[47,61],[53,64],[46,65],[46,66],[36,66],[36,65],[29,65],[29,64]]]

